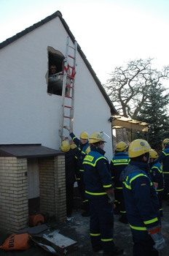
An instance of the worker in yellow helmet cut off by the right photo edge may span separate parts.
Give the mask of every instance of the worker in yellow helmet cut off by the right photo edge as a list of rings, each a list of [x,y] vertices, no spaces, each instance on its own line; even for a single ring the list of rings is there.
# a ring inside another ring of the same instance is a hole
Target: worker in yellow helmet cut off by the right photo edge
[[[164,193],[165,198],[169,198],[169,138],[162,141],[162,153],[158,157],[158,161],[162,163],[162,173],[164,174]]]

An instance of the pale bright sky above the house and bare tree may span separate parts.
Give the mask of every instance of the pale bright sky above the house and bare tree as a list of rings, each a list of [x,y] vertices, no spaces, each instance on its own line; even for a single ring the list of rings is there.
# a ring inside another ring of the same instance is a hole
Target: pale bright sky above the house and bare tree
[[[169,0],[1,0],[0,42],[57,10],[101,83],[130,60],[169,64]]]

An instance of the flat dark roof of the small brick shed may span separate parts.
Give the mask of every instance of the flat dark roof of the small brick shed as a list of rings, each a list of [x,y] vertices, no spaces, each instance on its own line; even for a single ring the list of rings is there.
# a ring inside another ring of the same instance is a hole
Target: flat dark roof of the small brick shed
[[[0,157],[35,158],[35,157],[55,157],[65,154],[52,148],[47,148],[41,144],[8,144],[0,145]]]

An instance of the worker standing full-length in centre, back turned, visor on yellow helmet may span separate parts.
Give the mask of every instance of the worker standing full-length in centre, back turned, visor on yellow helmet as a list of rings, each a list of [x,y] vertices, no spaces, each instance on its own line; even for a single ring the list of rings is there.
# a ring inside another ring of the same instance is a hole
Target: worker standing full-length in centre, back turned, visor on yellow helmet
[[[103,248],[103,255],[121,255],[114,246],[114,190],[109,160],[104,157],[103,132],[90,135],[90,152],[84,158],[84,184],[90,203],[90,238],[94,252]]]

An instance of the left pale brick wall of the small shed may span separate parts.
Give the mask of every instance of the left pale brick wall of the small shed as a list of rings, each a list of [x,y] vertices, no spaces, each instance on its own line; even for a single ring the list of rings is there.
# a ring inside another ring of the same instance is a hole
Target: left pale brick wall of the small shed
[[[27,159],[0,157],[0,227],[15,232],[28,223]]]

